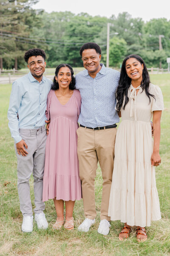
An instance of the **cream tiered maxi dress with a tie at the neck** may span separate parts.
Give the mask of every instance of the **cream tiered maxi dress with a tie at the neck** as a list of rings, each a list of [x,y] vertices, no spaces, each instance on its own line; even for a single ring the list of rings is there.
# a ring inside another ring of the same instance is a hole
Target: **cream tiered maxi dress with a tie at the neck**
[[[136,90],[138,90],[136,95]],[[153,111],[164,109],[161,89],[150,84],[151,102],[142,87],[130,85],[129,102],[121,109],[122,122],[115,142],[114,169],[108,216],[130,226],[150,226],[161,218],[155,167],[151,166]],[[124,103],[123,103],[124,105]]]

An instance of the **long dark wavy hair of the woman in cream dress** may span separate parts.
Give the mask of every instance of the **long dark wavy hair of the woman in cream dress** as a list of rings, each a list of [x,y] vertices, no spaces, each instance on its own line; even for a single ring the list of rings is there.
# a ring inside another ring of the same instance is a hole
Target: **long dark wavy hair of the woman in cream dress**
[[[150,97],[153,97],[155,99],[155,96],[153,94],[149,93],[150,77],[149,77],[149,73],[147,71],[146,64],[144,63],[143,59],[139,55],[131,54],[131,55],[127,56],[124,59],[124,61],[122,62],[119,85],[116,90],[116,99],[118,101],[116,108],[117,108],[118,112],[122,108],[124,96],[125,96],[125,104],[123,106],[123,110],[125,109],[125,106],[126,106],[127,102],[129,101],[129,98],[127,97],[127,93],[128,93],[128,89],[131,84],[131,79],[127,76],[127,73],[126,73],[126,61],[130,58],[136,58],[137,61],[139,61],[141,64],[143,64],[144,69],[143,69],[143,73],[142,73],[142,82],[141,82],[142,92],[143,92],[143,90],[145,90],[145,93],[146,93],[147,97],[149,98],[149,102],[150,102]]]

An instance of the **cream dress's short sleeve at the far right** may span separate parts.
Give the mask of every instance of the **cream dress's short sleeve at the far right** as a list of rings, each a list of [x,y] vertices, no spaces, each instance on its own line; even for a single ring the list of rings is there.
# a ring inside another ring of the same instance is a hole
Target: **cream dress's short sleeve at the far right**
[[[151,111],[159,111],[164,109],[164,101],[163,101],[163,95],[161,92],[161,89],[156,85],[153,95],[155,96],[155,99],[153,99],[152,102],[152,109]]]

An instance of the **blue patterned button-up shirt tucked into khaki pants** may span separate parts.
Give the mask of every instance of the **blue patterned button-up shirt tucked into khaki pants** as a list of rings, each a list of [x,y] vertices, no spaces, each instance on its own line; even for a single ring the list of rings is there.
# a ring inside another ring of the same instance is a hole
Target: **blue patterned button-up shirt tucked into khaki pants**
[[[78,122],[81,125],[96,128],[119,122],[116,107],[116,88],[119,83],[119,71],[105,67],[104,64],[95,78],[83,70],[76,75],[76,89],[82,97],[81,113]]]

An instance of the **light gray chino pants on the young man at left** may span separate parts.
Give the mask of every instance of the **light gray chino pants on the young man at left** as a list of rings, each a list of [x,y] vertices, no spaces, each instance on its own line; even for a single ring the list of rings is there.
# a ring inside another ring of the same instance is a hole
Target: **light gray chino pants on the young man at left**
[[[31,174],[34,177],[34,204],[35,213],[40,213],[45,209],[42,202],[42,186],[45,162],[45,143],[46,129],[45,126],[39,129],[20,129],[20,136],[28,145],[27,156],[24,157],[17,153],[16,144],[15,152],[17,155],[17,176],[18,176],[18,195],[20,199],[20,210],[23,216],[32,216],[32,205],[30,198],[29,179]]]

